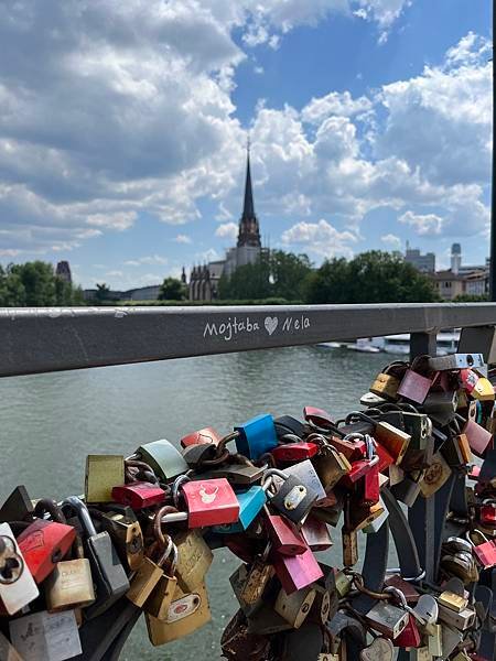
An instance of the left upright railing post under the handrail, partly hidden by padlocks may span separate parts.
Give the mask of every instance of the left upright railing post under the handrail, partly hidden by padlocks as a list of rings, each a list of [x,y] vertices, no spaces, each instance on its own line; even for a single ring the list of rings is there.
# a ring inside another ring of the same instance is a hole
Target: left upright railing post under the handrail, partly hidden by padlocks
[[[412,333],[410,335],[410,359],[428,354],[436,354],[438,333]],[[417,542],[419,560],[425,570],[425,581],[433,582],[435,578],[435,548],[436,535],[441,531],[435,530],[435,497],[422,498],[419,496],[413,506],[408,510],[408,522]]]

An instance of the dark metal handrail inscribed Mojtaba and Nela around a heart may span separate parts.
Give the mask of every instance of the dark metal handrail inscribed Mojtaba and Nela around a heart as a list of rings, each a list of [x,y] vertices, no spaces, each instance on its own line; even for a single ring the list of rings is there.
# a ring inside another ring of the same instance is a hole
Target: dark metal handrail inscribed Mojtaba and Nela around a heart
[[[0,308],[0,377],[496,325],[496,303]]]

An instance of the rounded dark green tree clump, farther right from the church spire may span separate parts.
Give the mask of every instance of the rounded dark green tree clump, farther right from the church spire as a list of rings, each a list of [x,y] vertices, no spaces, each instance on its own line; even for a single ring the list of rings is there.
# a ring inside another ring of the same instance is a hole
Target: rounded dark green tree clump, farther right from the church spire
[[[431,280],[401,256],[380,250],[326,260],[305,283],[309,303],[428,303],[439,301]]]

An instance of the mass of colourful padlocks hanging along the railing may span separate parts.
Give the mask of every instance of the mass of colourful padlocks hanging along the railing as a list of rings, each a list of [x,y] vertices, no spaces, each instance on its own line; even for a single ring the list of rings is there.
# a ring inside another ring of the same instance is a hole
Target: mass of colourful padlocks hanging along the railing
[[[89,455],[84,496],[58,503],[14,489],[0,508],[0,659],[110,658],[141,613],[153,646],[192,633],[211,620],[218,548],[241,561],[226,577],[231,661],[493,659],[496,414],[482,356],[396,361],[360,404],[344,420],[304,407],[225,436],[205,427],[181,449]],[[433,575],[381,574],[389,524],[406,566],[403,506],[438,497]],[[317,554],[339,524],[333,567]],[[362,572],[358,533],[379,549]]]

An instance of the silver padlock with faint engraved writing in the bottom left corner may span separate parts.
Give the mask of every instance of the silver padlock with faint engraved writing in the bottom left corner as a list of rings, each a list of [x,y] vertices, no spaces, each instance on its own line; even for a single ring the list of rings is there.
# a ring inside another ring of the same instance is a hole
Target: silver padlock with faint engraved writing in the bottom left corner
[[[12,620],[9,628],[24,661],[64,661],[83,652],[74,610],[33,613]]]

